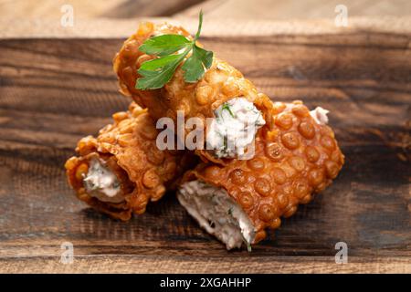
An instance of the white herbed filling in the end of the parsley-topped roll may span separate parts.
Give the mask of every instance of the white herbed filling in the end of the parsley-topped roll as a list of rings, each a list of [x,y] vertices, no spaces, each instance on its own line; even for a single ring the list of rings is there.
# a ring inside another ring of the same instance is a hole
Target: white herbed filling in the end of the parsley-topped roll
[[[208,127],[207,149],[218,158],[241,156],[254,141],[266,121],[261,112],[245,98],[230,99],[215,110],[216,118]]]

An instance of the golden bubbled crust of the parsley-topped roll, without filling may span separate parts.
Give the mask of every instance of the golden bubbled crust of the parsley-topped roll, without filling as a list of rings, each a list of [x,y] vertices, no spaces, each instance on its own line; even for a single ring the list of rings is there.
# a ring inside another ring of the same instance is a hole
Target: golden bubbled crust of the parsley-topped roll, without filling
[[[176,121],[177,111],[184,110],[186,120],[199,118],[206,127],[205,118],[214,117],[214,110],[221,104],[229,99],[244,97],[261,110],[267,123],[271,122],[272,103],[269,97],[258,93],[254,84],[244,78],[241,72],[216,57],[211,68],[206,70],[205,76],[198,82],[186,83],[184,71],[180,67],[176,69],[174,77],[163,89],[135,89],[135,80],[139,77],[138,68],[142,62],[153,58],[142,54],[138,48],[147,37],[168,33],[189,37],[182,27],[143,23],[137,33],[125,41],[121,51],[114,58],[114,70],[118,75],[123,94],[132,96],[143,108],[148,108],[155,120],[168,117]],[[186,134],[189,131],[187,129]],[[205,161],[225,163],[224,160],[216,159],[208,151],[196,150],[196,153]]]

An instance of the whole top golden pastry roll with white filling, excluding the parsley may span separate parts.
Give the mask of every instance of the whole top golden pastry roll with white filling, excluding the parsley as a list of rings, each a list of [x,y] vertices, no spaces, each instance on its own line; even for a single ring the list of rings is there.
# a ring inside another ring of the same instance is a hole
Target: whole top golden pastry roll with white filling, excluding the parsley
[[[245,123],[252,125],[252,127],[246,125],[242,128],[247,128],[249,135],[254,138],[259,128],[271,122],[272,103],[269,97],[258,93],[255,86],[227,62],[214,57],[211,68],[207,69],[204,77],[195,83],[184,81],[184,71],[180,67],[176,69],[173,78],[162,89],[135,89],[136,79],[139,78],[137,70],[143,62],[153,58],[139,51],[139,47],[150,36],[163,34],[191,37],[184,28],[179,26],[154,26],[151,23],[142,23],[138,31],[125,41],[114,58],[113,67],[119,78],[121,92],[132,96],[143,108],[148,108],[154,120],[168,117],[174,120],[176,125],[179,110],[184,112],[185,120],[200,119],[205,128],[204,141],[209,144],[208,148],[205,144],[206,149],[203,150],[197,147],[195,152],[203,160],[224,164],[232,158],[243,155],[247,151],[249,139],[235,140],[237,137],[235,136],[232,137],[235,144],[231,144],[231,138],[228,135],[232,132],[230,125],[234,123],[237,128],[241,128]],[[227,112],[233,117],[240,116],[242,119],[221,122],[225,114],[229,118]],[[206,118],[215,120],[213,125],[219,126],[218,131],[213,130],[213,127],[208,127],[210,124],[207,125]],[[190,131],[192,130],[185,129],[185,134]],[[209,137],[216,139],[208,140]],[[230,149],[227,145],[235,145],[235,149]]]

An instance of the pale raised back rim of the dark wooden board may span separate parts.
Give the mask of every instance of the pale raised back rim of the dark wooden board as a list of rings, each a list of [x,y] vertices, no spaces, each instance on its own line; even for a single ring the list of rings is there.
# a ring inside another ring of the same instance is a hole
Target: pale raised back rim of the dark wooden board
[[[73,27],[60,25],[59,18],[19,19],[5,16],[0,18],[0,38],[40,38],[40,37],[128,37],[137,29],[140,21],[156,23],[170,22],[184,26],[195,34],[198,26],[196,17],[140,17],[132,20],[112,20],[108,18],[76,18]],[[224,27],[224,29],[221,29]],[[203,36],[318,36],[323,34],[347,35],[364,31],[386,34],[410,34],[411,16],[404,17],[350,17],[348,27],[337,27],[333,18],[314,20],[274,21],[268,19],[213,19],[205,15]]]

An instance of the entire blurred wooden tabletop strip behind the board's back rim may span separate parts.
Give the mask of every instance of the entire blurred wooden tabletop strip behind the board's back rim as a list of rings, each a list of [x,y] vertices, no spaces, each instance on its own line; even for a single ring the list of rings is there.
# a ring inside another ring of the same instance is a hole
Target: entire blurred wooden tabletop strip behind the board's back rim
[[[335,6],[345,5],[351,16],[410,16],[408,0],[0,0],[1,18],[59,18],[62,5],[72,5],[76,18],[191,16],[203,9],[208,17],[235,19],[334,18]]]

